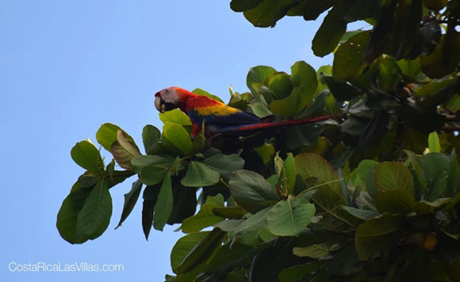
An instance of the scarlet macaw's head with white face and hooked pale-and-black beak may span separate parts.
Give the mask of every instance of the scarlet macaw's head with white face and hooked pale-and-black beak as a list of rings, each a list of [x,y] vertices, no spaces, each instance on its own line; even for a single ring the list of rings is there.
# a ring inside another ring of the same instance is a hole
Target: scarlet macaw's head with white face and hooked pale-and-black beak
[[[155,93],[155,108],[161,113],[175,108],[183,110],[182,108],[191,95],[193,94],[180,87],[165,88]]]

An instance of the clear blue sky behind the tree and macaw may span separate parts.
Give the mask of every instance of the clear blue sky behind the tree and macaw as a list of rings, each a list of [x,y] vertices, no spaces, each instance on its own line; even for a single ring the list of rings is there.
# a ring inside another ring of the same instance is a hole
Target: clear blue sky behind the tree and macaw
[[[163,281],[183,235],[176,226],[145,241],[138,202],[114,230],[133,179],[111,189],[113,215],[101,237],[61,239],[56,214],[83,172],[71,147],[96,141],[103,122],[141,147],[143,126],[161,125],[153,93],[171,85],[228,101],[230,85],[247,90],[252,66],[289,73],[295,61],[331,63],[310,50],[318,26],[296,17],[255,28],[229,1],[1,0],[0,281]],[[11,262],[123,263],[124,271],[19,273]]]

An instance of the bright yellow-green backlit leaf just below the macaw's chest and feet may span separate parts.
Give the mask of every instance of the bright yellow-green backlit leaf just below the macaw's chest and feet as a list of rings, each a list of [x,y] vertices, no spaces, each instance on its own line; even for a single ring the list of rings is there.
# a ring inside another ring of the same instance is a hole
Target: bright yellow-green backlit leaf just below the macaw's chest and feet
[[[193,155],[192,140],[187,130],[185,130],[182,125],[173,122],[165,122],[163,125],[161,142],[164,142],[165,139],[170,141],[174,147],[178,148],[185,155]]]

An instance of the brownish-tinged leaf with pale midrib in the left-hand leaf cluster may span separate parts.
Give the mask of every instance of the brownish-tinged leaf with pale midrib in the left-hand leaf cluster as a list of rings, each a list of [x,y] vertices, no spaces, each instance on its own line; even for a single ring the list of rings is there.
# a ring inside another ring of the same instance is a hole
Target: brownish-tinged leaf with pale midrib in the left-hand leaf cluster
[[[111,153],[121,167],[130,170],[133,168],[131,159],[140,155],[138,146],[129,140],[128,136],[121,130],[118,130],[117,140],[112,143]]]

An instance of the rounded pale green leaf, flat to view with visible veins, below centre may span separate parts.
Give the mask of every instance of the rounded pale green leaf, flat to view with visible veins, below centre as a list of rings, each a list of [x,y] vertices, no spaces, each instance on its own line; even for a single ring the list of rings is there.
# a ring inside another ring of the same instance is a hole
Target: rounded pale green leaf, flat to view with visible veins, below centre
[[[315,205],[307,199],[289,197],[275,204],[267,215],[268,230],[276,236],[297,236],[315,215]]]

